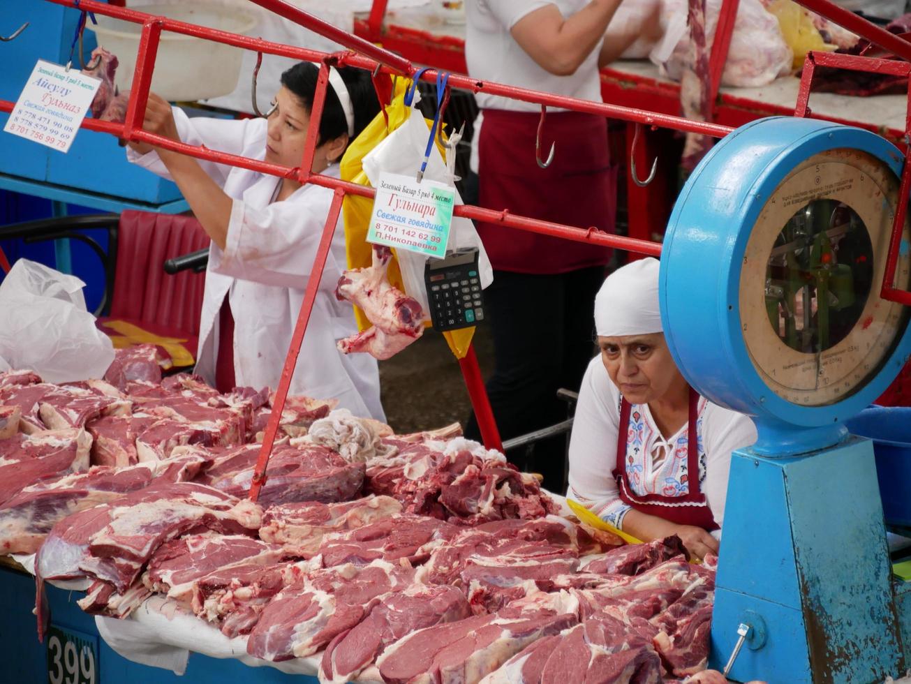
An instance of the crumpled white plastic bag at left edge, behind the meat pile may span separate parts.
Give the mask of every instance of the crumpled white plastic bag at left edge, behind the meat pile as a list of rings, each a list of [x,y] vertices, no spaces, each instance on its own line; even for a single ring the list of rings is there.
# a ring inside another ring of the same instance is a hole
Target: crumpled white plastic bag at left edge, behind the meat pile
[[[76,276],[20,259],[0,283],[0,358],[48,383],[103,377],[114,345],[86,311]]]

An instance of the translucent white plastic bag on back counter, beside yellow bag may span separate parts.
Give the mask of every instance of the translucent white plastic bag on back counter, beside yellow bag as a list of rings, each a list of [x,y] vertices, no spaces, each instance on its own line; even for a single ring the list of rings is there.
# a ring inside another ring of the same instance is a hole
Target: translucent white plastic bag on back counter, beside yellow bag
[[[705,37],[708,49],[715,36],[722,0],[706,0]],[[656,48],[652,61],[661,66],[667,77],[679,81],[683,67],[691,58],[690,32],[686,30],[687,0],[664,0],[661,25],[668,43],[679,36],[670,56]],[[682,23],[681,23],[682,22]],[[682,29],[682,30],[681,30]],[[664,57],[664,58],[662,58]],[[791,73],[793,53],[784,42],[778,19],[767,12],[760,0],[740,0],[737,19],[722,73],[722,86],[760,87],[775,78]]]

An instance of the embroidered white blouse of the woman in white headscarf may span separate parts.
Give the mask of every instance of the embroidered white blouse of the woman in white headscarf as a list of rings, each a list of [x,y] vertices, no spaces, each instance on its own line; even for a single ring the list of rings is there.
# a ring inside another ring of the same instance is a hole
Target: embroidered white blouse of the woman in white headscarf
[[[622,529],[623,516],[630,506],[620,500],[617,482],[611,475],[617,465],[619,402],[619,390],[610,381],[601,358],[596,356],[589,363],[578,394],[569,441],[567,497]],[[681,475],[686,472],[689,424],[683,424],[676,434],[665,439],[651,417],[648,404],[633,404],[630,415],[626,468],[633,493],[640,496],[689,493],[686,481],[681,481]],[[721,527],[731,454],[756,441],[756,428],[748,416],[700,398],[696,434],[701,491]]]

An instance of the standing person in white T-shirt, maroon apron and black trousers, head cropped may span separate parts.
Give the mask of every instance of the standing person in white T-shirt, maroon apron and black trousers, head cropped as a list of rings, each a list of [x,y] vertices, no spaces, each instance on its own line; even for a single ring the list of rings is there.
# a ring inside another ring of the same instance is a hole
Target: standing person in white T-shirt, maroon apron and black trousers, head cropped
[[[600,101],[599,66],[619,56],[648,17],[605,40],[620,0],[467,0],[466,61],[473,78]],[[613,232],[616,167],[610,163],[604,117],[548,107],[540,160],[535,160],[539,105],[476,95],[484,115],[478,147],[478,204],[570,226]],[[604,280],[608,248],[477,224],[493,264],[485,310],[494,338],[487,382],[504,439],[565,416],[560,387],[575,389],[591,352],[590,311]],[[477,438],[474,417],[466,434]],[[559,440],[535,444],[532,461],[551,489],[563,486]],[[515,455],[513,456],[515,457]]]

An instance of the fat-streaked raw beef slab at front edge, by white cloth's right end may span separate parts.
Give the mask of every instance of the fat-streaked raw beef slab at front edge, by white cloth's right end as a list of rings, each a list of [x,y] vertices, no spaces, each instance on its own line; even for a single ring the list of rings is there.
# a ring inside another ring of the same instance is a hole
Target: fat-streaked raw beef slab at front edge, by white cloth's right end
[[[353,628],[384,595],[412,584],[414,570],[375,560],[316,570],[272,598],[247,641],[265,660],[312,655]]]

